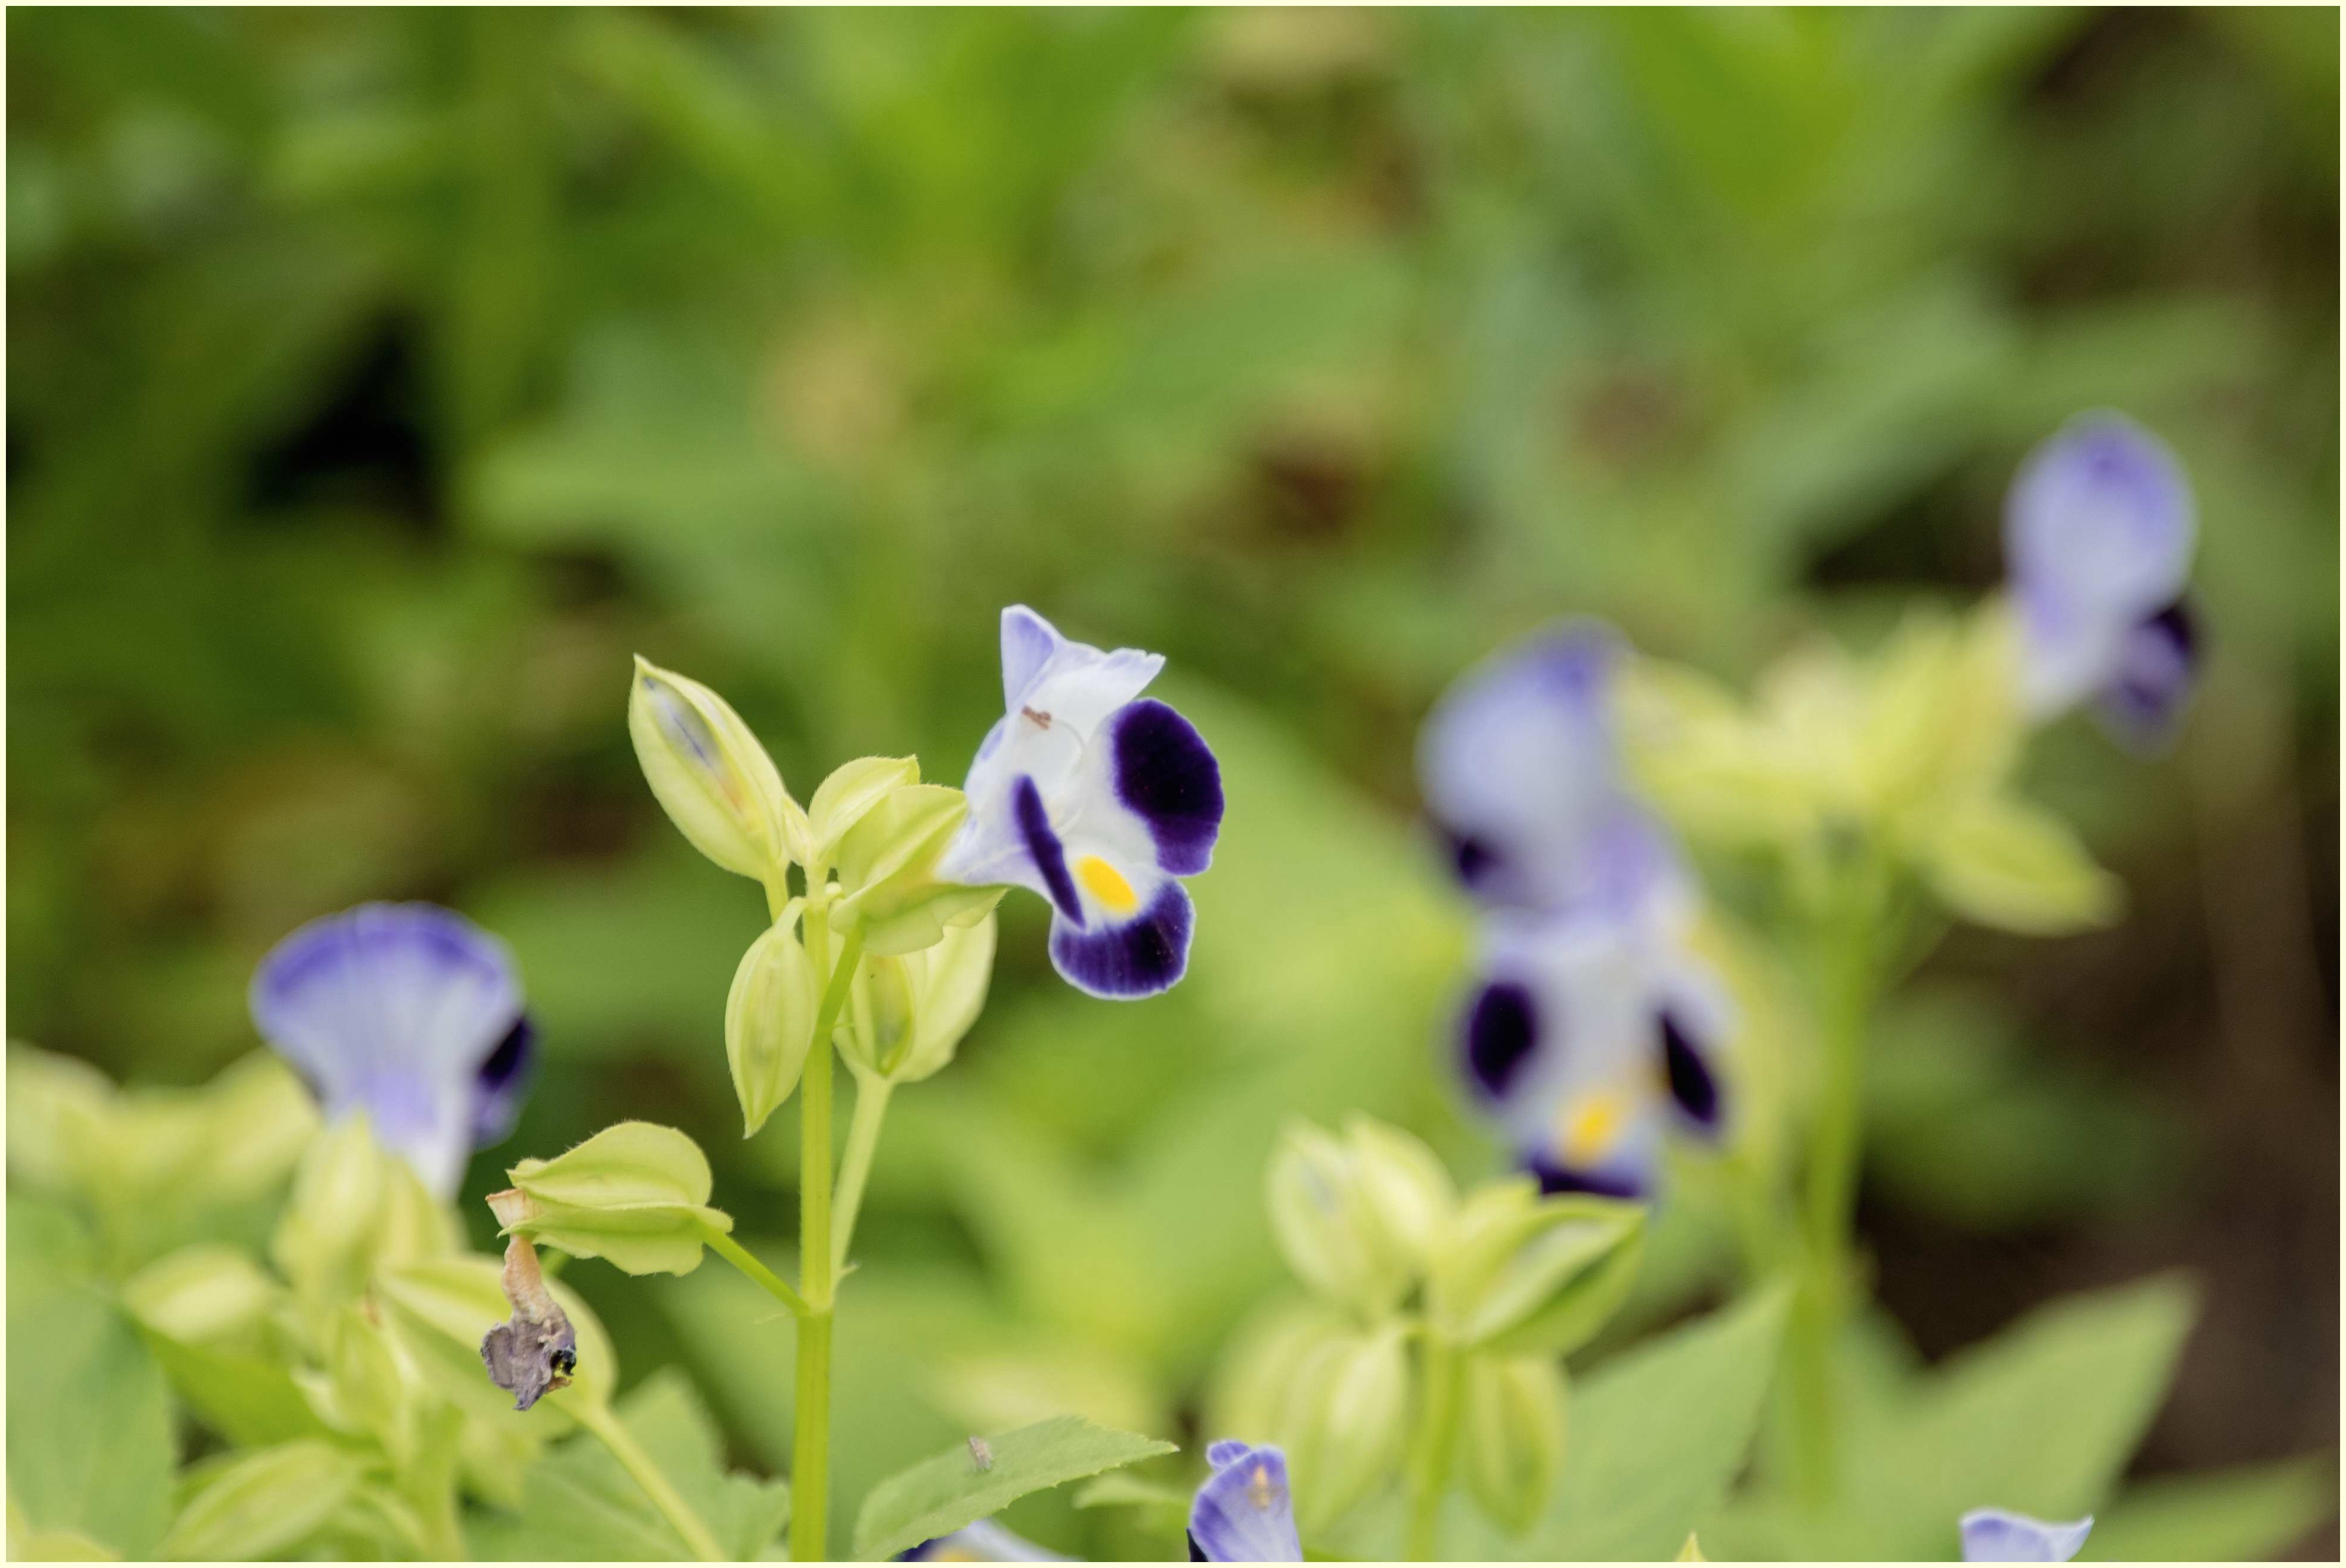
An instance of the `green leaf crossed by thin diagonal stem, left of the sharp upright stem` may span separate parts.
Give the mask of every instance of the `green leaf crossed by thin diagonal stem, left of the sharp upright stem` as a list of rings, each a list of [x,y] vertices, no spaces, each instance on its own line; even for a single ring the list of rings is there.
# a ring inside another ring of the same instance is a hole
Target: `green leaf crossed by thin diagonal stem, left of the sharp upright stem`
[[[723,1441],[676,1368],[647,1378],[617,1406],[619,1420],[676,1483],[734,1559],[765,1554],[791,1516],[791,1486],[725,1469]],[[483,1559],[676,1561],[692,1556],[619,1460],[579,1432],[523,1476],[521,1516],[472,1530]]]

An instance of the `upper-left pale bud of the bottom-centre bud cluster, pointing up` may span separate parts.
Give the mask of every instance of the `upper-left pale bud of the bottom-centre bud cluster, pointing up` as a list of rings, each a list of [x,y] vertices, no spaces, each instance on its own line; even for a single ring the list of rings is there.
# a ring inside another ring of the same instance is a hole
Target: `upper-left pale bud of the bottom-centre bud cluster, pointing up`
[[[1290,1122],[1272,1150],[1267,1190],[1279,1251],[1297,1279],[1363,1317],[1401,1303],[1443,1211],[1445,1183],[1429,1178],[1405,1141],[1394,1129],[1361,1134],[1356,1124],[1335,1138]]]

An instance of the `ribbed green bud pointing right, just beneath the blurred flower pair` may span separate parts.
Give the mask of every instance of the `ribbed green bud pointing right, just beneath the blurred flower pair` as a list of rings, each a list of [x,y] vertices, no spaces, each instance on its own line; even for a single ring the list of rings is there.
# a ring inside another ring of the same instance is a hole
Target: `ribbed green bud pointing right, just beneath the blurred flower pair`
[[[1426,1319],[1452,1345],[1562,1354],[1621,1305],[1642,1242],[1640,1204],[1539,1197],[1530,1181],[1487,1185],[1433,1258]]]

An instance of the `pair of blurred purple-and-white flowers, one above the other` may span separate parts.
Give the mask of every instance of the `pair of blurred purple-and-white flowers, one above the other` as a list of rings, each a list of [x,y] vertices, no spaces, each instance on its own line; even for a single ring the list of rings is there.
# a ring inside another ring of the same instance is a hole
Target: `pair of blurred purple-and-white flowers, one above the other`
[[[1619,638],[1555,627],[1464,676],[1419,737],[1426,807],[1483,911],[1466,1084],[1551,1192],[1635,1197],[1670,1127],[1717,1138],[1731,1012],[1696,887],[1621,779]]]

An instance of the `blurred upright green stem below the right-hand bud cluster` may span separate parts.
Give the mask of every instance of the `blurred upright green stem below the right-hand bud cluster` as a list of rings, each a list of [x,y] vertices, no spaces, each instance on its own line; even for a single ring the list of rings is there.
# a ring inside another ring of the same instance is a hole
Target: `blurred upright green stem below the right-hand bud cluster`
[[[1881,986],[1884,918],[1879,866],[1860,861],[1820,932],[1816,1016],[1823,1082],[1809,1145],[1802,1204],[1802,1284],[1792,1303],[1788,1399],[1792,1483],[1809,1505],[1825,1505],[1835,1481],[1832,1340],[1851,1277],[1849,1232],[1856,1218],[1858,1157],[1865,1131],[1865,1033]]]

